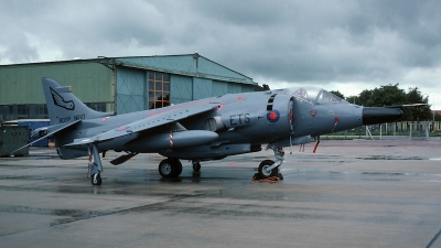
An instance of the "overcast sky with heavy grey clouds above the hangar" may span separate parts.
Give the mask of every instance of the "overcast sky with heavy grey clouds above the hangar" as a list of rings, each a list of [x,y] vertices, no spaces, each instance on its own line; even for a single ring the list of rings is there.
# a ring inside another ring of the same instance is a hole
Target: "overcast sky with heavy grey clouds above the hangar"
[[[196,51],[272,89],[399,83],[441,109],[441,1],[0,0],[0,64]]]

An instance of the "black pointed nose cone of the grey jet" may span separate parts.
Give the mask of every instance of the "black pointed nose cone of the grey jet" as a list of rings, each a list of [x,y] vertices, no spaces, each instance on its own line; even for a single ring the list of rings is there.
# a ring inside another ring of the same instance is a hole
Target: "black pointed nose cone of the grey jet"
[[[405,114],[399,108],[368,107],[363,108],[363,125],[375,125],[396,121]]]

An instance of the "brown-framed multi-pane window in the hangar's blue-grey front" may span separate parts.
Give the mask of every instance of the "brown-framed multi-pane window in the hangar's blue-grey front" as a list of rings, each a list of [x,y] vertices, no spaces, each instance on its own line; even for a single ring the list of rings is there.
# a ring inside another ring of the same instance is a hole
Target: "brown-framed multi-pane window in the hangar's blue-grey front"
[[[149,72],[149,109],[170,106],[170,74]]]

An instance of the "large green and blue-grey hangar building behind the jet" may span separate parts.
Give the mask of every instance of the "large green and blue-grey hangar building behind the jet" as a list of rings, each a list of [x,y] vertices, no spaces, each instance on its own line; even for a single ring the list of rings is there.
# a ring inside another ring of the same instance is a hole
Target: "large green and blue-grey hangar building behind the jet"
[[[72,86],[96,110],[117,114],[262,89],[252,78],[197,53],[1,65],[0,122],[49,118],[42,77]]]

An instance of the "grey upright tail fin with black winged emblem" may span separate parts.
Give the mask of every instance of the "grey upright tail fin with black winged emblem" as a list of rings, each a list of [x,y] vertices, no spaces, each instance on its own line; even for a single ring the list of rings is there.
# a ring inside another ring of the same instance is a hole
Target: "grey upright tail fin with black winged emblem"
[[[87,107],[72,94],[69,86],[62,86],[56,80],[42,78],[51,125],[69,123],[75,120],[101,118],[115,112],[99,112]]]

